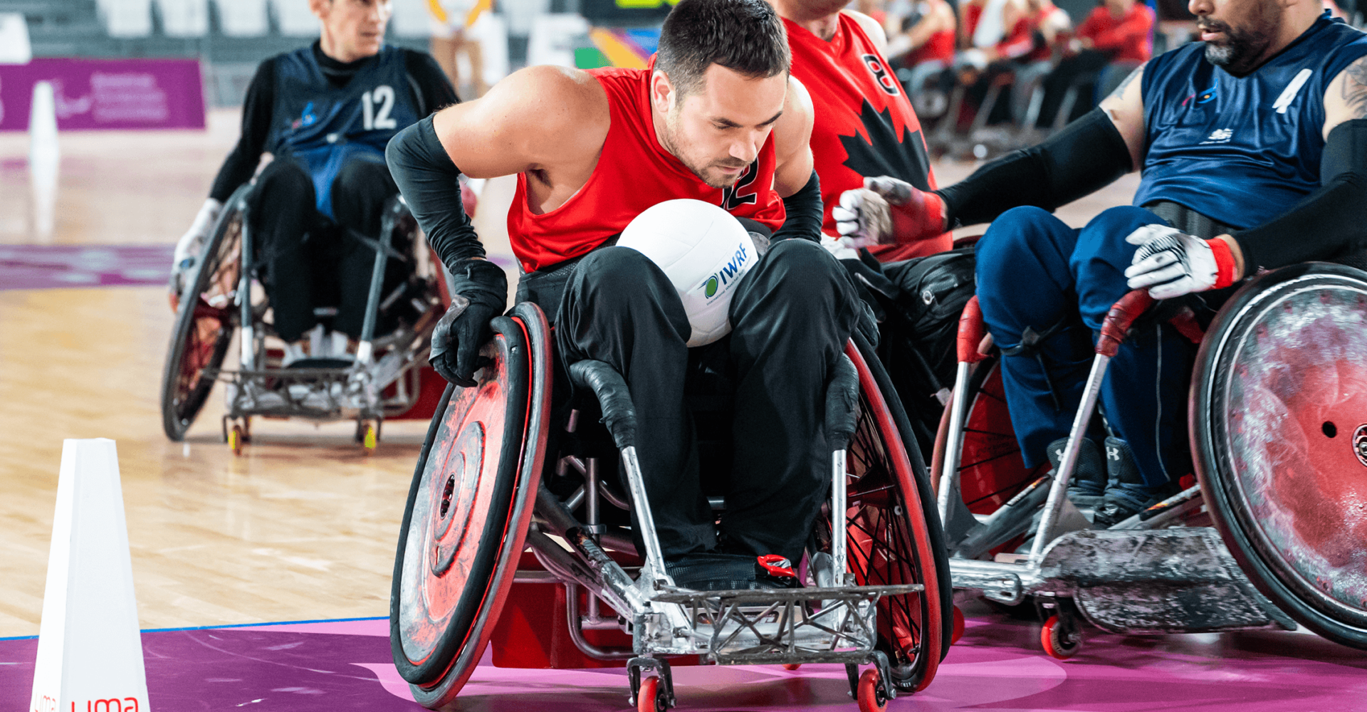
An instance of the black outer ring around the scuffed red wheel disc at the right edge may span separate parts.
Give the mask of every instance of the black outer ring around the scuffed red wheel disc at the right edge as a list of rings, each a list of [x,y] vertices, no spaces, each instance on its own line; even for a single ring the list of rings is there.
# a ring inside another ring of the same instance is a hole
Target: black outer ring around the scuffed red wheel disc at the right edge
[[[1221,454],[1221,444],[1225,443],[1228,432],[1228,425],[1221,417],[1225,411],[1223,387],[1232,372],[1229,364],[1234,351],[1228,344],[1241,339],[1229,335],[1247,332],[1255,321],[1254,310],[1245,309],[1248,305],[1266,298],[1274,290],[1280,291],[1277,287],[1281,284],[1307,276],[1323,277],[1325,286],[1342,284],[1344,279],[1357,287],[1367,286],[1367,273],[1362,271],[1327,262],[1307,262],[1262,275],[1241,287],[1211,323],[1196,355],[1188,413],[1192,461],[1196,463],[1196,476],[1211,519],[1254,586],[1296,622],[1319,635],[1342,645],[1367,649],[1367,625],[1341,620],[1334,615],[1336,611],[1321,600],[1319,592],[1301,585],[1299,575],[1282,575],[1281,556],[1266,545],[1262,537],[1251,534],[1256,530],[1252,512],[1247,511],[1241,497],[1234,492],[1237,484],[1226,462],[1228,458]]]

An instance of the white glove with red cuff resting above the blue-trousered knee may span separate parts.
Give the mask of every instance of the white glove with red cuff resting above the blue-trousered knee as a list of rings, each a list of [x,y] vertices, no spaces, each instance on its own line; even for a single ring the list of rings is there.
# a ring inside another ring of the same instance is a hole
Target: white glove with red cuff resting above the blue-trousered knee
[[[1154,299],[1234,283],[1234,256],[1225,241],[1204,241],[1167,225],[1144,225],[1125,242],[1139,246],[1125,269],[1129,288],[1148,288]]]

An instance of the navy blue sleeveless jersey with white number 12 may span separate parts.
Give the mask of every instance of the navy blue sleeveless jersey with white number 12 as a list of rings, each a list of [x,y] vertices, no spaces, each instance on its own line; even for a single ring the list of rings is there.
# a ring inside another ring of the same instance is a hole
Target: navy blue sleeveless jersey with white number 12
[[[323,75],[312,48],[275,61],[275,108],[265,150],[309,167],[319,212],[332,217],[332,180],[351,159],[384,163],[384,146],[421,116],[403,51],[385,46],[344,87]]]

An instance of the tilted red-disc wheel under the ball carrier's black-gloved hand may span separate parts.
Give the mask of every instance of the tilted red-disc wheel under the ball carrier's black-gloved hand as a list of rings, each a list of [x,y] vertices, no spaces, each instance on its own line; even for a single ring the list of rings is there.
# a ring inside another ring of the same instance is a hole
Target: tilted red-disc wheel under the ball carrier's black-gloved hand
[[[455,698],[498,622],[548,435],[550,332],[533,305],[493,320],[473,388],[447,388],[418,456],[394,562],[390,646],[414,698]]]

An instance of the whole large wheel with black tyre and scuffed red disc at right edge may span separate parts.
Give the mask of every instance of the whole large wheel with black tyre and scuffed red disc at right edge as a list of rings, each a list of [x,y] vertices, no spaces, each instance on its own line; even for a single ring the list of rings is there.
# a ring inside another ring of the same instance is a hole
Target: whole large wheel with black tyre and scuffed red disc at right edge
[[[1189,420],[1202,493],[1248,578],[1367,649],[1367,273],[1305,264],[1239,290],[1202,343]]]

